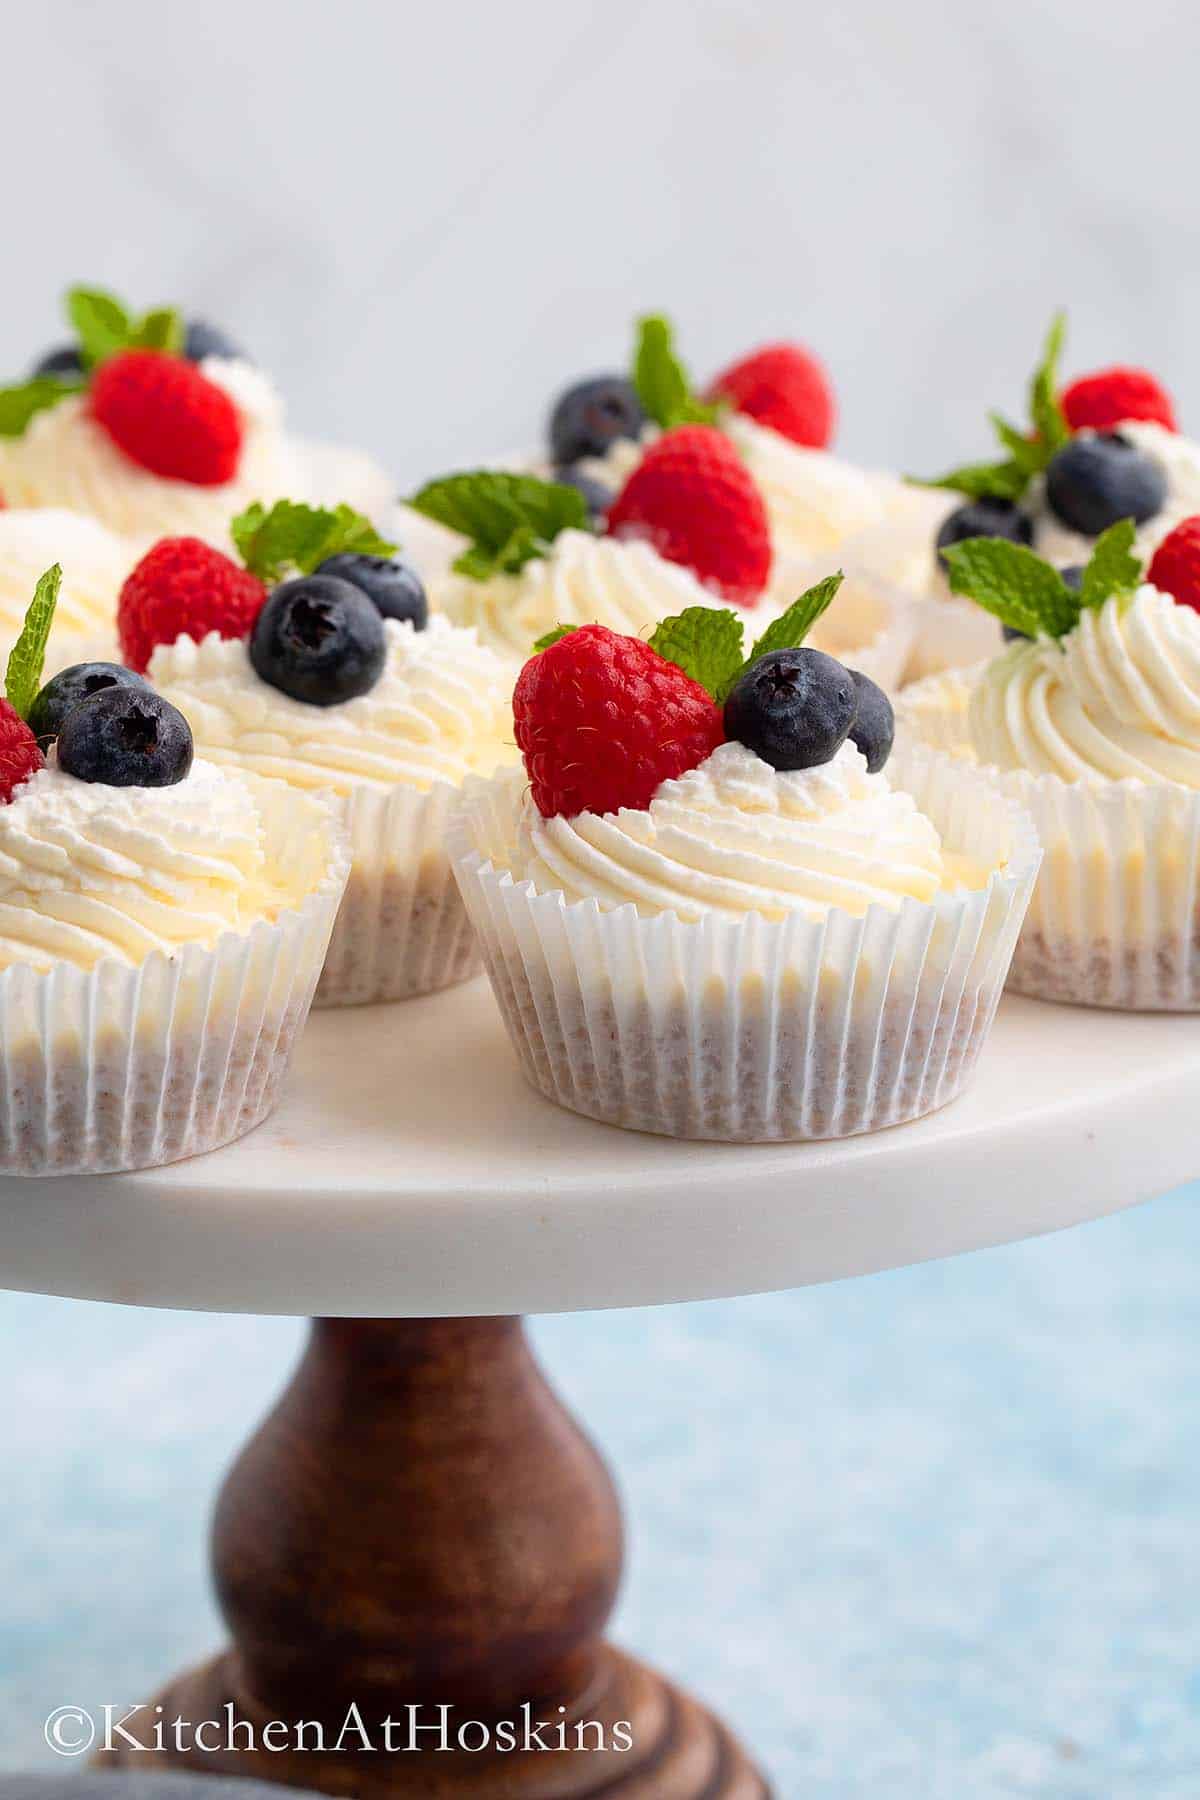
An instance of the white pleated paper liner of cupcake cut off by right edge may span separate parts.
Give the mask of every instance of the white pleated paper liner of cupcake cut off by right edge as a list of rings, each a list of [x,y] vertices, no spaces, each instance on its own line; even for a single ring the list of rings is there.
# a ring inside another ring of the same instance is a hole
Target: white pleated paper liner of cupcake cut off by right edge
[[[939,749],[943,761],[970,756],[975,675],[909,688],[901,738]],[[1200,794],[1169,781],[979,774],[1027,808],[1045,850],[1009,986],[1079,1006],[1200,1012]]]

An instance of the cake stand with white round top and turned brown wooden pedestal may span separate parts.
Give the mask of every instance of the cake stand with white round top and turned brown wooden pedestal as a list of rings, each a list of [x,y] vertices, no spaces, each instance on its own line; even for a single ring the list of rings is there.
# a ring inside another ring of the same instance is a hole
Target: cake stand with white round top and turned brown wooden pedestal
[[[351,1703],[369,1730],[444,1705],[471,1742],[491,1728],[482,1751],[426,1732],[425,1755],[281,1753],[243,1730],[164,1755],[367,1796],[761,1800],[729,1732],[603,1642],[615,1496],[515,1314],[793,1287],[1094,1219],[1198,1172],[1198,1087],[1195,1019],[1007,999],[972,1091],[936,1118],[831,1145],[673,1143],[527,1089],[470,983],[317,1015],[284,1105],[228,1150],[0,1183],[9,1287],[317,1314],[218,1505],[234,1649],[175,1681],[167,1715],[320,1721],[329,1742]],[[525,1703],[565,1748],[498,1746]]]

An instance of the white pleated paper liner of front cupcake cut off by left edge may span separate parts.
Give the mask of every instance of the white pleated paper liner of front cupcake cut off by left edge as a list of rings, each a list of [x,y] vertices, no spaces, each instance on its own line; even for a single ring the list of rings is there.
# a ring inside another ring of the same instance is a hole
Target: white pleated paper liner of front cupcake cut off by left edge
[[[306,898],[212,949],[137,967],[0,974],[0,1172],[106,1174],[175,1163],[275,1105],[308,1017],[349,859],[333,812],[270,785],[268,860]]]

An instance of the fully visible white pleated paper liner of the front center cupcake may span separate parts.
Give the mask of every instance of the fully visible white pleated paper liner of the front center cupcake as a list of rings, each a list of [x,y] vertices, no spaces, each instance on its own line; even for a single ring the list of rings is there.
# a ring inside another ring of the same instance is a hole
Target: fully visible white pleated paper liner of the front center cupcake
[[[955,850],[1004,859],[984,887],[864,918],[685,922],[515,880],[524,776],[468,783],[450,853],[527,1080],[588,1118],[725,1141],[844,1138],[954,1100],[1040,851],[1018,808],[981,805],[941,758],[909,756],[903,785]]]

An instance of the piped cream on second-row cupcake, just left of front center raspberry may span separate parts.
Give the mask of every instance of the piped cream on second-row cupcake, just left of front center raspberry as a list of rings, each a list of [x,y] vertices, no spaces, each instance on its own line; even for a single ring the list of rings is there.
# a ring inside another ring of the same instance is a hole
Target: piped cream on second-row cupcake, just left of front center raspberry
[[[261,680],[241,639],[160,644],[149,679],[185,715],[196,751],[297,788],[426,790],[513,761],[511,682],[473,632],[383,621],[387,664],[369,693],[308,706]]]

